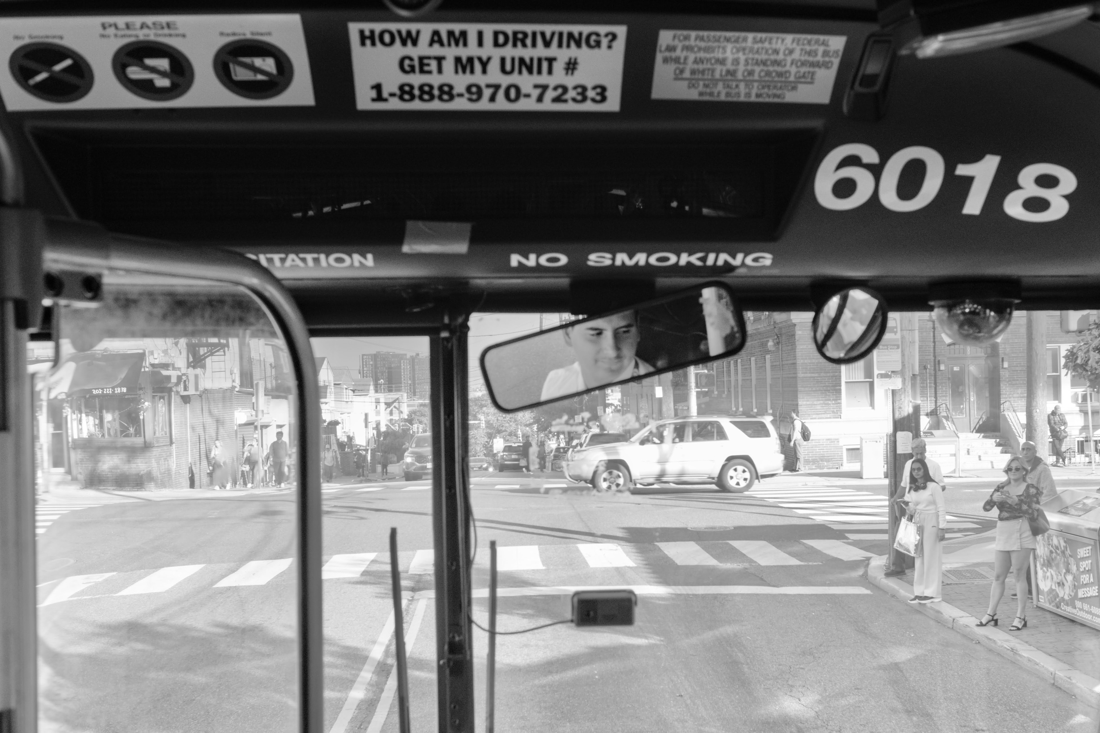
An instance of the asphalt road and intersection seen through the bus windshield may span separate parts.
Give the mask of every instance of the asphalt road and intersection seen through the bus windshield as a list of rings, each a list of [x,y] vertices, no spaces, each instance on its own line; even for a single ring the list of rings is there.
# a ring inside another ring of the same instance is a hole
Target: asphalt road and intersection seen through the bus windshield
[[[992,525],[980,504],[994,482],[949,484],[952,534]],[[497,730],[1096,731],[1094,710],[862,578],[886,552],[884,495],[884,481],[801,475],[747,495],[614,496],[554,475],[475,475],[477,621],[490,540],[501,631],[569,619],[576,586],[639,593],[635,626],[499,636]],[[45,506],[41,730],[296,730],[294,500]],[[327,730],[397,730],[391,526],[415,633],[414,730],[436,730],[428,481],[329,487],[323,507]],[[474,647],[481,721],[483,632]]]

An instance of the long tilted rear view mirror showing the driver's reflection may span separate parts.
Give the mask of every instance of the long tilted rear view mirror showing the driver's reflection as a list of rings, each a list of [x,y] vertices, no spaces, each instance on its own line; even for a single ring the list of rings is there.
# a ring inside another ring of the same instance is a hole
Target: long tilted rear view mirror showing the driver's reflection
[[[715,282],[495,344],[481,365],[493,402],[514,411],[729,356],[744,345],[740,309]]]

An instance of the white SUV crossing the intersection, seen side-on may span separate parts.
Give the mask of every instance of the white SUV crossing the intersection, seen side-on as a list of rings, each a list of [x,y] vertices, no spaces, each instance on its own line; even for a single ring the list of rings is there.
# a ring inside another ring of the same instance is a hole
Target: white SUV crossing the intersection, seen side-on
[[[758,477],[782,473],[783,449],[770,418],[697,415],[654,422],[626,443],[575,451],[563,469],[597,491],[671,481],[740,493]]]

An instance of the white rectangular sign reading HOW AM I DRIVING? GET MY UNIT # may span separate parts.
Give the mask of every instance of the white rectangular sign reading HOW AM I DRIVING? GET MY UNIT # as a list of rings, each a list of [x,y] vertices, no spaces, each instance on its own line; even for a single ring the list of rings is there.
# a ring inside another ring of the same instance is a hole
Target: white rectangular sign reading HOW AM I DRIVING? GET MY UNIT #
[[[618,112],[626,25],[349,23],[361,110]]]

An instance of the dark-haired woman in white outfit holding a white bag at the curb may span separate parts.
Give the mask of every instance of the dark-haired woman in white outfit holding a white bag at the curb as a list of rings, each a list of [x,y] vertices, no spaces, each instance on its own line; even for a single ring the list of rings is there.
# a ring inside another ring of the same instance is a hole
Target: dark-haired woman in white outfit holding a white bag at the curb
[[[913,521],[921,530],[921,553],[913,570],[913,598],[910,603],[935,603],[941,598],[943,553],[941,543],[947,538],[947,504],[943,489],[932,480],[928,464],[913,458],[910,466],[905,498]]]

